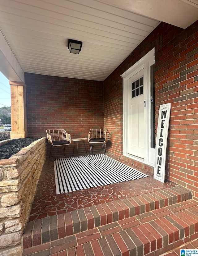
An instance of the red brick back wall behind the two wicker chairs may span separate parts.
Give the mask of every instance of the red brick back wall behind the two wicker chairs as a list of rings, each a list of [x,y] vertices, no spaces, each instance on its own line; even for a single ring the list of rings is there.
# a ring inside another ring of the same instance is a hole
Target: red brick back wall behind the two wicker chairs
[[[91,128],[104,127],[103,82],[25,73],[25,84],[29,137],[59,128],[71,138],[87,138]]]

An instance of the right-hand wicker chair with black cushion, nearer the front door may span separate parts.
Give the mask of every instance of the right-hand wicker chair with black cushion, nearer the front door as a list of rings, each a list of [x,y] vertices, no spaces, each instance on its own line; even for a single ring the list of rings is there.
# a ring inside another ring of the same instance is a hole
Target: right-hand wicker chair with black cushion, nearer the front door
[[[105,140],[106,140],[106,129],[90,129],[88,133],[88,142],[91,143],[89,155],[93,153],[93,147],[95,143],[102,144],[102,148],[105,154],[106,153]]]

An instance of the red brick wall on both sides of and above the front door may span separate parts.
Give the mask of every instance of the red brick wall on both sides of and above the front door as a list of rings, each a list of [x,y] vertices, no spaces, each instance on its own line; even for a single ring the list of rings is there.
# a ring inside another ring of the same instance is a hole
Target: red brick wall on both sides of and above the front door
[[[123,103],[120,75],[155,48],[155,117],[171,103],[166,178],[198,197],[198,21],[183,30],[161,23],[104,81],[104,122],[109,152],[123,154]]]

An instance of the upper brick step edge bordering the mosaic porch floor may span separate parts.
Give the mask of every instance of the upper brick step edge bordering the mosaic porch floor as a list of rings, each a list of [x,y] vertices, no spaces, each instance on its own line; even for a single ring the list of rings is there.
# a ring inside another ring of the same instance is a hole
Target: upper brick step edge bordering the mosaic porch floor
[[[188,199],[192,199],[192,192],[177,185],[156,192],[45,217],[27,223],[23,235],[23,246],[24,248],[37,246]]]

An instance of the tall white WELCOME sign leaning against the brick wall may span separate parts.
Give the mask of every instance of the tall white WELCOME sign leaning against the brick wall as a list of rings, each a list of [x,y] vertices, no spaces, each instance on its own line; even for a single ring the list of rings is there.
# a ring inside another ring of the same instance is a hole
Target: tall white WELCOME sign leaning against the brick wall
[[[166,165],[166,145],[171,103],[160,105],[155,148],[154,178],[164,183]]]

